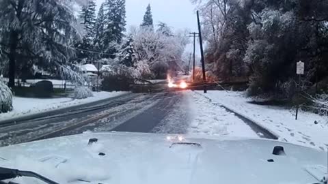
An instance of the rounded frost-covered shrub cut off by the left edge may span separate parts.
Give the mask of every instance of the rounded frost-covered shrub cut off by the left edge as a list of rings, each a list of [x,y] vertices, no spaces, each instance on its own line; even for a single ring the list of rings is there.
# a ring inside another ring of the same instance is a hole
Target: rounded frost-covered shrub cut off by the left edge
[[[12,110],[12,91],[0,79],[0,113]]]

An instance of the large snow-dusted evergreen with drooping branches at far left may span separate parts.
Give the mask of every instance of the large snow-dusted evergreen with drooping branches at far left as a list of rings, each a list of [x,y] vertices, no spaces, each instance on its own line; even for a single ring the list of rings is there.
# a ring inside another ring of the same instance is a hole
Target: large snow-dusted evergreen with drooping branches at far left
[[[70,49],[77,40],[72,26],[74,14],[64,4],[54,0],[0,1],[0,45],[9,63],[9,86],[14,87],[19,65],[42,63],[54,67],[74,55]]]

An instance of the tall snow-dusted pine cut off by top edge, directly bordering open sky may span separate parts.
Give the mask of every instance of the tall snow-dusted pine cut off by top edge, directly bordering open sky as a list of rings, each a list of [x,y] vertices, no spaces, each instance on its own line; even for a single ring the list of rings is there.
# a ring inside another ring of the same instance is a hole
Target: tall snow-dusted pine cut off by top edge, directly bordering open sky
[[[102,42],[107,52],[111,50],[111,48],[109,48],[111,44],[120,44],[124,37],[124,32],[126,31],[125,0],[107,0],[104,5],[104,10],[105,31],[100,42]],[[110,52],[113,52],[113,50]]]

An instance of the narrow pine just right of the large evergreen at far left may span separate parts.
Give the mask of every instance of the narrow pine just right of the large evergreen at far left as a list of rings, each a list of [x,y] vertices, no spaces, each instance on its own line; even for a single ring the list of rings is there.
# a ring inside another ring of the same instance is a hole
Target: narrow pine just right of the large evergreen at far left
[[[96,3],[94,0],[88,0],[86,5],[83,5],[80,18],[81,24],[84,26],[85,36],[94,36],[94,25],[96,22]]]

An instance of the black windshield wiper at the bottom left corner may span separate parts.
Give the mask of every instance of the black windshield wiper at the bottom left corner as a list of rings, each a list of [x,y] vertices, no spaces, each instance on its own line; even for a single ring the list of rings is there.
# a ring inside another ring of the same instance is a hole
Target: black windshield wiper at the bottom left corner
[[[40,174],[38,174],[36,172],[0,167],[0,181],[6,180],[6,179],[14,179],[16,177],[31,177],[31,178],[40,179],[41,181],[44,181],[45,183],[59,184],[59,183],[56,183],[55,181],[52,181],[51,179],[42,177]]]

